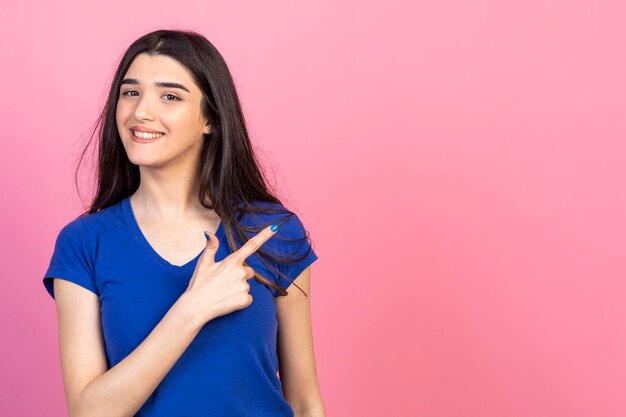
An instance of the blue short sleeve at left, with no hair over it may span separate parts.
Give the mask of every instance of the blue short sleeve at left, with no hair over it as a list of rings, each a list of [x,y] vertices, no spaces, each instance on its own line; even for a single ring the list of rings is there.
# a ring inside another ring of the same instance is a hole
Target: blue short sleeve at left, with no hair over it
[[[55,298],[54,278],[73,282],[100,295],[95,285],[87,230],[80,218],[63,227],[54,244],[52,259],[43,278],[43,284],[52,298]]]

